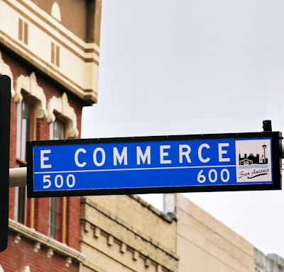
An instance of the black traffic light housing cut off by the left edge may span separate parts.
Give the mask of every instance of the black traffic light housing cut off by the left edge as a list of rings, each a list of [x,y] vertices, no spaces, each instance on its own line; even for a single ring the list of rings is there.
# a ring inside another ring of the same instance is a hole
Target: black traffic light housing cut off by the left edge
[[[0,251],[8,244],[11,79],[0,76]]]

